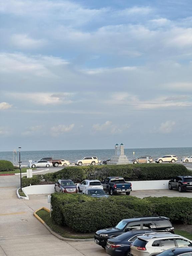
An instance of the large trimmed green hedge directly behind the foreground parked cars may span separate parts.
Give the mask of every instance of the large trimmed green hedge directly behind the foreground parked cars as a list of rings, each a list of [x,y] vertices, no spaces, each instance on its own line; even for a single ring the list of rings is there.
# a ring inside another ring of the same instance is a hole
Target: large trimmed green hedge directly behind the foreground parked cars
[[[112,196],[92,198],[79,194],[52,194],[52,218],[75,231],[94,232],[115,226],[120,220],[158,214],[171,222],[192,224],[192,198],[136,198]]]

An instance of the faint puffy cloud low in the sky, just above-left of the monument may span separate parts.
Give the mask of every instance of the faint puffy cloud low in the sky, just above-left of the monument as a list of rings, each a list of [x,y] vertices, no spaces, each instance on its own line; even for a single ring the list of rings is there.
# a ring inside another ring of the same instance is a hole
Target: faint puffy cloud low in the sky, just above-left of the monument
[[[106,121],[103,124],[93,124],[92,129],[94,132],[110,132],[111,134],[119,134],[127,130],[129,125],[124,124],[121,126],[114,125],[111,121]]]

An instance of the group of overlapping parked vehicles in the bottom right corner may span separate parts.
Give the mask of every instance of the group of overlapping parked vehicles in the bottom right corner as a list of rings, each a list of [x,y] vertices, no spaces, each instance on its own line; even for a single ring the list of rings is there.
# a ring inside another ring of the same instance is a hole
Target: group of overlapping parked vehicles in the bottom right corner
[[[111,256],[192,256],[192,241],[174,234],[169,218],[143,216],[98,230],[95,243]]]

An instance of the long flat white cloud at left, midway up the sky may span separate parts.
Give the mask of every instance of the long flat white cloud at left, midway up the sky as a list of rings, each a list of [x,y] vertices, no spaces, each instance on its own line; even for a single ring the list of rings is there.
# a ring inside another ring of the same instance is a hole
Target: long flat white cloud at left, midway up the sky
[[[31,101],[34,104],[47,105],[47,104],[70,104],[72,103],[73,93],[61,92],[59,94],[54,93],[24,93],[14,92],[9,93],[9,97],[22,101]]]

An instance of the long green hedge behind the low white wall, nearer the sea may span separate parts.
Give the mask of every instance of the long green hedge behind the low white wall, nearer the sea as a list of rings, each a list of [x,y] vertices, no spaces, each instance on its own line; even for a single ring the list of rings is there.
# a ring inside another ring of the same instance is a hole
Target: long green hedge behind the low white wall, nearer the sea
[[[191,175],[182,164],[129,164],[129,165],[98,165],[73,166],[44,175],[47,180],[72,179],[81,182],[84,179],[103,180],[107,176],[122,176],[129,180],[168,180],[177,175]]]

